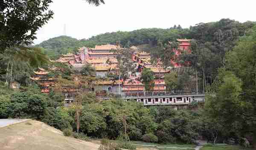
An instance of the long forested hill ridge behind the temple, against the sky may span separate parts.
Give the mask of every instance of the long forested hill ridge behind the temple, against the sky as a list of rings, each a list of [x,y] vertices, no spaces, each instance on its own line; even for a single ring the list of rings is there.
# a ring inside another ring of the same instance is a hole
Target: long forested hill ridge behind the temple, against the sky
[[[44,41],[37,46],[44,48],[46,54],[53,59],[61,54],[76,51],[77,47],[80,46],[94,47],[100,44],[114,44],[116,41],[120,41],[121,45],[125,47],[140,44],[156,44],[156,42],[167,43],[167,41],[173,41],[177,38],[193,38],[200,42],[218,42],[217,37],[222,38],[221,40],[227,40],[224,38],[231,37],[232,39],[228,40],[235,41],[237,37],[244,35],[245,31],[251,28],[253,24],[255,23],[250,21],[239,23],[235,20],[221,19],[217,22],[199,23],[191,26],[189,29],[183,29],[180,26],[167,29],[143,28],[130,32],[117,31],[99,34],[82,40],[60,36]]]

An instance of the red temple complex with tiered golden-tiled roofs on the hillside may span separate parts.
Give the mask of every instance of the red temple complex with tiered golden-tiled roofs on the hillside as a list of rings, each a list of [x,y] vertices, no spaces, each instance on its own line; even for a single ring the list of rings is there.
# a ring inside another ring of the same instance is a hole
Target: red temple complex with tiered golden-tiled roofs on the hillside
[[[179,42],[179,48],[174,49],[175,57],[172,60],[173,66],[175,68],[181,67],[180,64],[177,63],[175,58],[181,54],[181,51],[189,51],[190,41],[187,39],[177,39]],[[82,68],[86,64],[92,65],[96,70],[96,76],[105,77],[109,73],[117,73],[119,72],[118,68],[118,61],[115,58],[115,54],[112,50],[121,49],[118,45],[96,45],[95,48],[79,48],[76,54],[68,53],[62,55],[61,58],[56,60],[55,62],[62,62],[66,63],[67,65],[73,65],[75,68]],[[129,79],[123,81],[101,81],[97,85],[98,88],[105,91],[105,95],[113,94],[120,94],[124,96],[129,96],[129,94],[144,94],[145,95],[145,85],[142,84],[138,80],[140,77],[140,72],[143,68],[149,68],[151,71],[154,72],[155,79],[155,86],[153,89],[154,92],[166,92],[166,84],[163,80],[163,76],[165,74],[169,74],[170,69],[164,69],[159,66],[151,64],[151,56],[150,53],[140,51],[139,48],[136,46],[130,47],[132,54],[131,59],[132,61],[137,64],[137,76],[130,76]],[[45,71],[43,68],[38,68],[38,71],[35,71],[35,76],[31,79],[38,82],[38,85],[41,87],[41,92],[48,93],[49,88],[54,85],[56,79],[48,78],[49,72]],[[65,91],[63,91],[65,92]],[[66,92],[70,92],[67,90]],[[101,94],[103,94],[101,93]]]

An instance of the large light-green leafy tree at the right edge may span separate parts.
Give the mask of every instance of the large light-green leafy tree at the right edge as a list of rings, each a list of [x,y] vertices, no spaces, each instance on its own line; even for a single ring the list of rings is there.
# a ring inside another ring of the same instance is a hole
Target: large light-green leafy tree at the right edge
[[[207,96],[207,114],[218,119],[224,127],[237,136],[253,133],[256,147],[256,27],[241,37],[237,46],[225,56],[225,68]],[[219,111],[221,110],[221,111]],[[238,122],[243,122],[238,124]],[[228,126],[227,126],[228,125]]]

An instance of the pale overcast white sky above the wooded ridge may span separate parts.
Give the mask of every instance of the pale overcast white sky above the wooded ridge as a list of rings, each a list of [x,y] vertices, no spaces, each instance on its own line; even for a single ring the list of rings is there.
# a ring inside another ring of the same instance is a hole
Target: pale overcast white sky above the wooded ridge
[[[35,44],[66,35],[77,39],[140,28],[183,28],[230,18],[256,21],[256,0],[105,0],[93,6],[85,0],[53,0],[53,19],[37,32]]]

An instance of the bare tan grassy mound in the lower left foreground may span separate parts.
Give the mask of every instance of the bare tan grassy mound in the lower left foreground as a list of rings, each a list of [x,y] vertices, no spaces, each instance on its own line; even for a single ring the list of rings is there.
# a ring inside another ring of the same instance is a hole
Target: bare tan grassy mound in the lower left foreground
[[[63,136],[43,122],[28,121],[0,128],[1,150],[98,150],[99,145]]]

